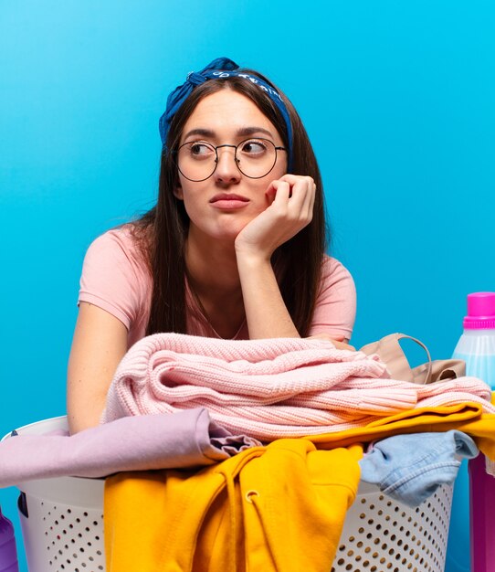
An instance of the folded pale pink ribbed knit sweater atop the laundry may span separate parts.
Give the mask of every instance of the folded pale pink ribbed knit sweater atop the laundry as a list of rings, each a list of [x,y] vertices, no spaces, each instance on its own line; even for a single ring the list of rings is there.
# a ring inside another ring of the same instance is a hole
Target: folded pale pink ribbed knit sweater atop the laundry
[[[338,350],[324,340],[153,334],[121,360],[101,420],[204,407],[226,429],[273,440],[467,401],[495,413],[490,387],[474,377],[428,386],[387,377],[377,355]]]

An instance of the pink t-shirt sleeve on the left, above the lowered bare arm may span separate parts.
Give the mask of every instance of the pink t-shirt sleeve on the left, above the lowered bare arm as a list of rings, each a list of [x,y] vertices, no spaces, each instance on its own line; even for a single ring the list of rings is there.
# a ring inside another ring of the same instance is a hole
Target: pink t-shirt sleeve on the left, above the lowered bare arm
[[[125,230],[110,230],[96,238],[82,265],[78,305],[90,302],[102,308],[129,331],[143,304],[143,265]]]

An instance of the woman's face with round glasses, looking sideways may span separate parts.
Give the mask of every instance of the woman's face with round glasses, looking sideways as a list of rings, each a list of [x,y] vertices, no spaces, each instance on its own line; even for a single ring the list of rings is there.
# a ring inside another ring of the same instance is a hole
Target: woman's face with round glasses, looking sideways
[[[237,91],[225,89],[199,101],[185,122],[180,144],[205,142],[216,147],[237,145],[247,139],[257,138],[283,146],[273,123],[259,111],[253,101]],[[208,153],[208,148],[200,144],[195,144],[192,149],[189,154],[194,154],[191,161],[196,163],[203,161],[202,155]],[[245,149],[257,154],[260,147],[254,143],[247,144]],[[179,185],[174,194],[184,201],[190,218],[189,240],[216,238],[233,241],[248,222],[269,207],[271,199],[266,196],[269,183],[287,172],[285,151],[278,151],[273,169],[268,175],[257,179],[249,178],[239,171],[235,153],[234,147],[218,149],[216,170],[204,181],[190,181],[179,172]],[[205,161],[213,161],[214,158],[215,154]]]

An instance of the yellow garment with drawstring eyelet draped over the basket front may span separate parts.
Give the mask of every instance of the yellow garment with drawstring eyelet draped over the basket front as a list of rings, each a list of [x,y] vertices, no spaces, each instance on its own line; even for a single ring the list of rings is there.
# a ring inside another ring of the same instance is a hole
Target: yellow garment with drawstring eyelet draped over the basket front
[[[362,454],[283,439],[196,473],[110,477],[107,572],[329,572]]]

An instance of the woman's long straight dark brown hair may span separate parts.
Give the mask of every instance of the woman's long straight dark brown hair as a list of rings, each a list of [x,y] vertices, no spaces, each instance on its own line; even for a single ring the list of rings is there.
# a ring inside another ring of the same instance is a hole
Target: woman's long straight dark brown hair
[[[238,70],[269,79],[251,69]],[[199,101],[216,91],[230,89],[247,96],[274,124],[286,147],[289,146],[286,123],[263,90],[248,79],[228,77],[209,79],[197,86],[174,116],[163,147],[158,201],[155,207],[133,223],[133,234],[146,257],[153,277],[151,312],[146,334],[175,332],[185,334],[185,260],[184,242],[189,218],[184,203],[174,196],[178,171],[174,150],[177,148],[184,124]],[[316,198],[311,223],[282,244],[272,257],[277,269],[279,288],[292,321],[302,337],[311,326],[312,314],[321,277],[321,260],[326,248],[326,226],[323,186],[320,169],[308,134],[290,101],[285,101],[292,126],[292,169],[294,175],[310,175],[316,184]]]

